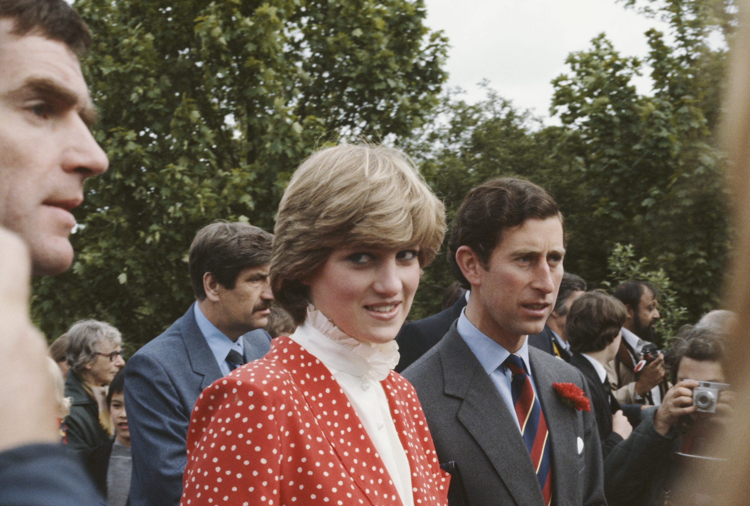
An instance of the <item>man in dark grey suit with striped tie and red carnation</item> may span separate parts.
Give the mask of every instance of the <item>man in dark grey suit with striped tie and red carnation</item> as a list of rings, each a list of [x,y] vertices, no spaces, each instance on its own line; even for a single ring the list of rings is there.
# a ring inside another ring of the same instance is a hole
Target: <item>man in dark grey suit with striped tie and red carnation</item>
[[[452,474],[451,506],[606,504],[596,421],[575,400],[586,380],[526,340],[554,307],[564,243],[556,202],[529,181],[487,181],[458,210],[449,259],[469,303],[404,372]]]

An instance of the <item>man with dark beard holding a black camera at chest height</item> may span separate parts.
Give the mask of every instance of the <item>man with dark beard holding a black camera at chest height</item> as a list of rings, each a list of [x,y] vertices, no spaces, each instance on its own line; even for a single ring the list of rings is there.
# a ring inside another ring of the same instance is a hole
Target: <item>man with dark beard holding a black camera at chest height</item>
[[[667,390],[664,385],[664,355],[634,370],[640,362],[643,346],[654,340],[654,325],[660,315],[656,308],[656,290],[645,281],[628,280],[612,294],[628,310],[622,325],[622,341],[613,361],[607,364],[607,379],[620,404],[648,404],[658,406]]]

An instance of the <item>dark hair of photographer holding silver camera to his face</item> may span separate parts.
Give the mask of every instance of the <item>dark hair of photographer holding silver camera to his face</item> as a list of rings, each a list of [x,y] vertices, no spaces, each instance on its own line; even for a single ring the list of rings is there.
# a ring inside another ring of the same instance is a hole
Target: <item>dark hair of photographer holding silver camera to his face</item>
[[[677,370],[683,358],[724,364],[725,334],[712,327],[683,325],[670,343],[664,361],[670,369],[672,383],[677,382]]]

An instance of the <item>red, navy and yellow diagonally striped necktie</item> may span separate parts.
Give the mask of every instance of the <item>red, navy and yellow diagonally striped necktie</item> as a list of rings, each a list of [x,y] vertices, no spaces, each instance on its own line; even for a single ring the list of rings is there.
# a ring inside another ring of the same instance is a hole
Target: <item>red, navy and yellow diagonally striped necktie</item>
[[[541,412],[541,404],[534,394],[523,358],[511,353],[503,364],[512,374],[511,394],[521,437],[526,443],[531,463],[536,469],[536,478],[541,488],[541,496],[544,497],[544,505],[549,506],[552,501],[552,467],[547,422],[544,421],[544,413]]]

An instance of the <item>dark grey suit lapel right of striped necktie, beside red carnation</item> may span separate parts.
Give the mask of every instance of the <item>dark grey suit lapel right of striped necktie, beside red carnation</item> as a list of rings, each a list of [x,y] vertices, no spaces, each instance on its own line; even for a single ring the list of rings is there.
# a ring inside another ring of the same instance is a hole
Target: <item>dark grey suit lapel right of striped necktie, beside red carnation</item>
[[[574,497],[571,487],[577,484],[577,412],[563,403],[552,388],[556,379],[547,367],[537,360],[538,350],[529,349],[529,363],[536,385],[536,392],[547,421],[552,445],[553,497]],[[585,360],[585,359],[584,359]],[[555,501],[556,502],[556,501]],[[556,504],[559,504],[556,502]]]

